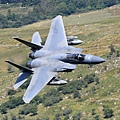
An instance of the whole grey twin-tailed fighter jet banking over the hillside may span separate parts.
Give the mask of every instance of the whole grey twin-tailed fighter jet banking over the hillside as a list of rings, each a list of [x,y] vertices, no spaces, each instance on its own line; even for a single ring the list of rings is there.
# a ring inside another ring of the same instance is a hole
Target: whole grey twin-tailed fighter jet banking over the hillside
[[[50,31],[43,47],[40,44],[41,38],[38,32],[33,34],[32,42],[19,38],[15,39],[31,47],[32,50],[29,54],[31,60],[27,62],[27,67],[6,61],[21,70],[14,84],[15,89],[32,75],[30,84],[23,96],[25,103],[29,103],[47,84],[66,84],[66,81],[55,78],[57,72],[71,72],[76,68],[76,64],[99,64],[105,62],[101,57],[83,54],[82,49],[68,46],[62,16],[60,15],[52,20]]]

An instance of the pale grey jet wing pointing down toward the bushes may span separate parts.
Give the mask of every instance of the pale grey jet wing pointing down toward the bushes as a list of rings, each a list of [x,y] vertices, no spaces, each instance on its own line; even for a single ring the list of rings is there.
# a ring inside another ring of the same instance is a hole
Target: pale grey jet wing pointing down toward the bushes
[[[25,103],[29,103],[55,76],[56,72],[51,72],[49,66],[38,67],[34,69],[31,82],[23,96]]]

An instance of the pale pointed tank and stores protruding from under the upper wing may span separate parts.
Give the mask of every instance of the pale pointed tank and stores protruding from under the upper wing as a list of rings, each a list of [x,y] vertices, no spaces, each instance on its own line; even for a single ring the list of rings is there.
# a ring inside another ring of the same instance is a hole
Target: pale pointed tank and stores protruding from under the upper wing
[[[77,38],[77,36],[67,36],[68,45],[78,45],[83,42],[82,40],[79,40]]]

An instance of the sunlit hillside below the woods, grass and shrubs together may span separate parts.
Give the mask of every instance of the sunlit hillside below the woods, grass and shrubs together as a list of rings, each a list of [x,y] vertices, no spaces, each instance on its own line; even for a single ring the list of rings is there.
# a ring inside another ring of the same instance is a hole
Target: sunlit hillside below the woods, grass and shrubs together
[[[19,36],[31,41],[32,34],[39,31],[43,41],[45,41],[51,20],[21,28],[0,29],[1,107],[6,106],[9,101],[7,113],[4,109],[0,113],[0,118],[2,120],[67,120],[70,118],[72,120],[80,118],[82,120],[103,120],[106,119],[105,112],[110,114],[112,110],[113,116],[108,119],[120,119],[120,57],[118,56],[120,54],[120,14],[117,11],[119,8],[120,5],[117,5],[104,10],[63,17],[66,34],[77,35],[79,39],[84,41],[83,44],[76,47],[82,48],[83,53],[104,57],[106,62],[94,66],[78,65],[72,74],[59,73],[58,76],[67,80],[68,84],[63,87],[46,86],[38,94],[36,100],[39,102],[37,104],[33,101],[31,104],[25,105],[20,101],[21,103],[17,107],[14,106],[16,100],[17,102],[21,100],[25,89],[20,88],[13,95],[8,95],[8,92],[13,90],[12,86],[19,70],[10,67],[4,61],[9,59],[25,65],[30,50],[13,40],[12,37]],[[85,80],[90,76],[93,81],[87,83]],[[80,83],[82,86],[76,90],[75,88],[79,87],[77,85]],[[55,96],[61,97],[60,101],[56,100]],[[41,99],[44,99],[42,103]],[[56,101],[56,103],[52,104],[51,100]],[[25,111],[27,109],[33,111],[27,114],[28,111]]]

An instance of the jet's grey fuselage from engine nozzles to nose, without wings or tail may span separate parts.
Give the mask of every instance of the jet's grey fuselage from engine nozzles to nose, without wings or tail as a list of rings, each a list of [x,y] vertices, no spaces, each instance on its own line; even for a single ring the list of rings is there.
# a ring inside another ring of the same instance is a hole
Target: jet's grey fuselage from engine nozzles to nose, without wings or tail
[[[75,69],[72,64],[99,64],[105,61],[98,56],[82,54],[81,49],[74,47],[58,49],[54,52],[41,49],[32,53],[32,57],[34,59],[27,63],[27,67],[35,68],[49,64],[51,66],[56,66],[54,68],[56,72],[72,71]]]

